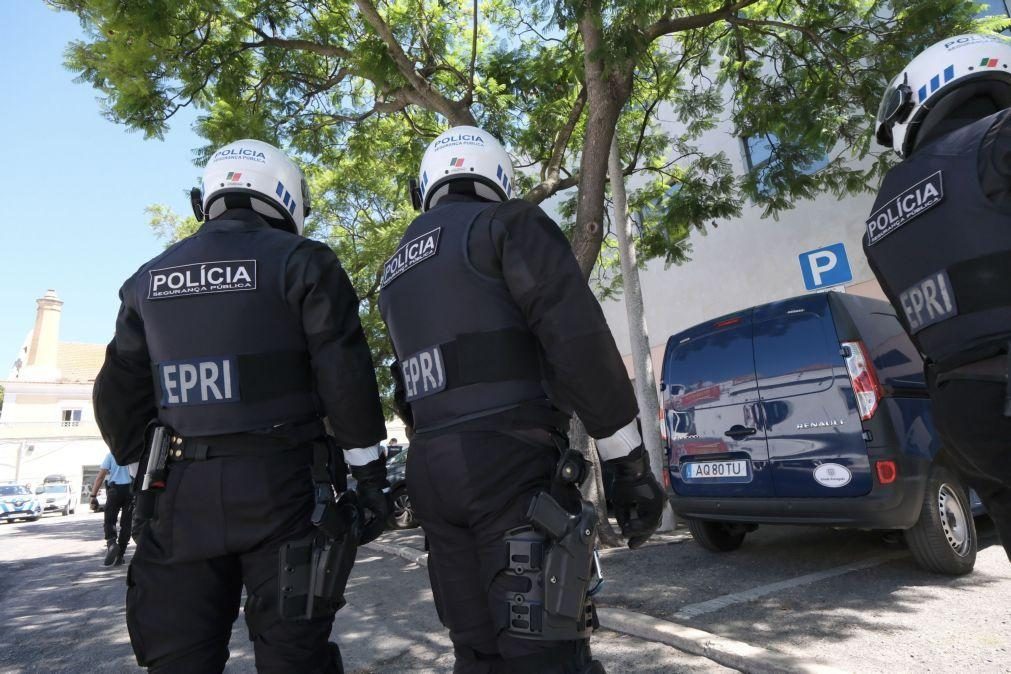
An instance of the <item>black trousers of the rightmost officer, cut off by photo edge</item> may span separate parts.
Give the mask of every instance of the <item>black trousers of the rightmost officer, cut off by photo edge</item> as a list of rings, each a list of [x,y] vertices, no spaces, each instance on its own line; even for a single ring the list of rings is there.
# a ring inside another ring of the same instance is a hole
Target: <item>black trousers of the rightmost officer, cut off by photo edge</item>
[[[1007,384],[950,379],[929,369],[934,421],[943,454],[980,495],[1011,559],[1011,417],[1004,416]]]

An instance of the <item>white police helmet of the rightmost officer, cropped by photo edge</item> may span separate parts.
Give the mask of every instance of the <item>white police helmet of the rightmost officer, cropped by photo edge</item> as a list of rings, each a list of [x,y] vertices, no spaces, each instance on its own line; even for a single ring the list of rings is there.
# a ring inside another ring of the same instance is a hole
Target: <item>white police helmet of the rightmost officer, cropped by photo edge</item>
[[[955,35],[922,52],[892,80],[878,109],[878,142],[908,157],[917,137],[973,98],[1011,107],[1011,39]]]

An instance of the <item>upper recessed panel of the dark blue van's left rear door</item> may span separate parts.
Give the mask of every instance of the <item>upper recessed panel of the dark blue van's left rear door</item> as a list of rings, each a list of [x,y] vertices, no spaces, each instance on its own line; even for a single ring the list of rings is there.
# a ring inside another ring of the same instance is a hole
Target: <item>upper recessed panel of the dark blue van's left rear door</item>
[[[757,400],[751,323],[676,345],[667,356],[664,382],[677,410]]]

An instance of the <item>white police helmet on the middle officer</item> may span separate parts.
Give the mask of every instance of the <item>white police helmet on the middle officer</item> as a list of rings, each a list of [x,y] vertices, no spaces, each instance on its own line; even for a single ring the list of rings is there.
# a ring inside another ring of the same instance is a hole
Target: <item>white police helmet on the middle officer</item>
[[[423,211],[450,192],[505,201],[513,196],[513,161],[487,131],[454,126],[425,151],[418,182],[411,182],[411,201]]]

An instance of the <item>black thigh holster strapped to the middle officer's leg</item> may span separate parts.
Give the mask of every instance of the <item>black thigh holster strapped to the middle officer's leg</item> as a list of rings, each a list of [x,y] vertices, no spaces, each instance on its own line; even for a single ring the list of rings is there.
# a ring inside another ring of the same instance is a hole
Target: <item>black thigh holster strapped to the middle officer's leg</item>
[[[498,620],[511,635],[545,641],[589,638],[596,513],[589,503],[581,505],[573,514],[542,492],[528,512],[532,523],[507,532]]]

